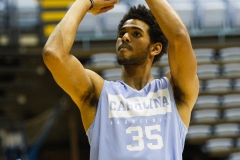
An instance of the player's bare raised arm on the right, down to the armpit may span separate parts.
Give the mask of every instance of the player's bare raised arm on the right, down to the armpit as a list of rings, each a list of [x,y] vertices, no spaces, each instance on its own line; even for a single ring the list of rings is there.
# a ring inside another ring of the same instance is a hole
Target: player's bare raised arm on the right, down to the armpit
[[[146,0],[146,2],[169,41],[170,73],[167,77],[172,83],[179,114],[188,126],[199,90],[197,62],[188,31],[166,0]]]

